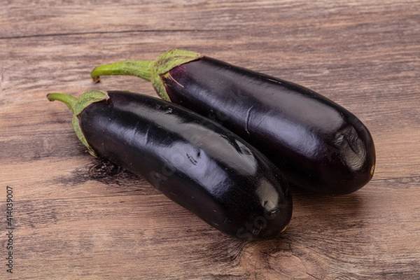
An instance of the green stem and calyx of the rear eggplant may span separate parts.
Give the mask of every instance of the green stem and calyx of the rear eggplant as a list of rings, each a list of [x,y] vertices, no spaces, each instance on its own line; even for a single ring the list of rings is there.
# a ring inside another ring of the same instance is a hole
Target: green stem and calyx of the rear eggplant
[[[108,75],[130,75],[137,76],[152,82],[158,95],[167,101],[171,101],[165,85],[162,83],[162,76],[171,71],[176,66],[192,62],[202,58],[203,55],[189,50],[169,50],[160,55],[156,60],[131,60],[116,62],[97,66],[92,70],[90,76],[95,83],[99,82],[100,76]]]

